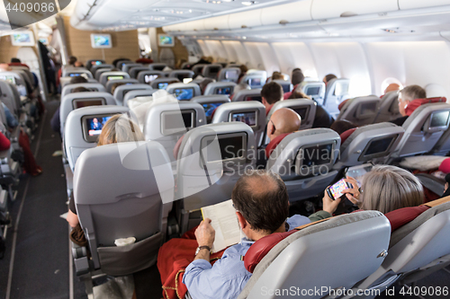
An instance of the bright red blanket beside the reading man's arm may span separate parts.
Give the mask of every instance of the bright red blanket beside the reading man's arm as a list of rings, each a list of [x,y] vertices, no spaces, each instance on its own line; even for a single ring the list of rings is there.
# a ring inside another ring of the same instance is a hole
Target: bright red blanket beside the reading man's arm
[[[183,299],[187,288],[183,283],[185,268],[195,258],[195,250],[198,247],[195,240],[194,227],[184,233],[180,239],[172,239],[166,242],[157,254],[157,269],[163,285],[163,297],[165,299]],[[225,251],[225,250],[223,250]],[[213,253],[211,265],[223,254],[223,251]]]

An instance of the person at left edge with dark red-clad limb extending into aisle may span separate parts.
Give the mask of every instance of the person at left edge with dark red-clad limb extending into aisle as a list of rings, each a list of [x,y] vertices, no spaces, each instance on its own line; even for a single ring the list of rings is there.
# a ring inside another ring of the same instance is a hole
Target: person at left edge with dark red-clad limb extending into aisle
[[[2,103],[2,105],[4,108],[7,127],[12,130],[19,126],[19,121],[17,121],[13,113],[6,107],[6,105],[4,105],[4,103]],[[28,138],[28,135],[23,131],[23,128],[20,128],[18,141],[23,150],[23,169],[27,173],[30,173],[33,177],[40,175],[40,173],[42,173],[42,168],[36,163],[36,160],[34,159],[34,155],[31,152],[30,139]]]

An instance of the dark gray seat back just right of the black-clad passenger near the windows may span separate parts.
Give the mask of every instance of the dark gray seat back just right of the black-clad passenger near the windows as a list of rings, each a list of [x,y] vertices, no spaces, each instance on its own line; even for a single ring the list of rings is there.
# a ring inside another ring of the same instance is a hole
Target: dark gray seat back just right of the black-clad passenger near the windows
[[[344,104],[336,120],[346,119],[357,127],[372,124],[380,109],[381,102],[382,99],[376,95],[350,99]]]

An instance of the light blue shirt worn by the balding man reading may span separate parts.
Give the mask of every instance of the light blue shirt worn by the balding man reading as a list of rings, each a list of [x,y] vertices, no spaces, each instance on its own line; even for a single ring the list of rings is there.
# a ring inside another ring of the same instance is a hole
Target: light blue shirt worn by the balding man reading
[[[289,224],[288,231],[310,222],[308,217],[302,215],[293,215],[286,220]],[[241,256],[246,255],[253,243],[246,238],[242,239],[223,252],[221,259],[213,266],[205,259],[196,259],[190,263],[183,277],[189,294],[195,299],[237,298],[252,276],[245,268]]]

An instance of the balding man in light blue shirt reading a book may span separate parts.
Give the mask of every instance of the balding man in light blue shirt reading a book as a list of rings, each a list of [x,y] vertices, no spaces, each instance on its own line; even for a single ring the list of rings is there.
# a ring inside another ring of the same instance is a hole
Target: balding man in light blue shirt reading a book
[[[195,231],[199,247],[195,259],[185,269],[183,282],[190,295],[202,298],[236,298],[251,273],[242,257],[257,240],[271,233],[283,233],[309,224],[302,215],[289,215],[289,198],[284,181],[271,171],[247,171],[236,183],[231,199],[238,224],[245,234],[238,244],[223,252],[213,266],[210,252],[215,239],[211,226],[214,219],[205,218]]]

